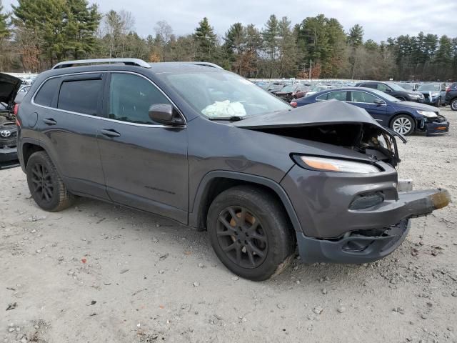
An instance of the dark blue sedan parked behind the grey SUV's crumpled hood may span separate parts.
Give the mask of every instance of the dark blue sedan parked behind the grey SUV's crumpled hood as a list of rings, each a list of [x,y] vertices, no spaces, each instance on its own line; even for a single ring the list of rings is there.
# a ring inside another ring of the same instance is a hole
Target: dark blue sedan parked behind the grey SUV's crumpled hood
[[[407,136],[414,131],[427,135],[446,134],[449,123],[433,106],[417,102],[400,101],[377,89],[348,87],[327,89],[291,102],[292,106],[304,106],[318,101],[336,99],[366,109],[379,124],[390,127],[398,134]]]

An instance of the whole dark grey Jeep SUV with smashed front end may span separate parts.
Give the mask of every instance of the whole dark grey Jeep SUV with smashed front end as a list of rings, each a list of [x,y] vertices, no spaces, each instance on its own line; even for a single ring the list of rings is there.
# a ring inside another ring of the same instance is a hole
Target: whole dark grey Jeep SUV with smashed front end
[[[61,62],[39,74],[17,120],[39,207],[60,211],[77,195],[206,229],[246,279],[278,274],[297,245],[303,262],[380,259],[411,217],[450,201],[444,189],[397,191],[395,136],[364,109],[293,109],[212,66]]]

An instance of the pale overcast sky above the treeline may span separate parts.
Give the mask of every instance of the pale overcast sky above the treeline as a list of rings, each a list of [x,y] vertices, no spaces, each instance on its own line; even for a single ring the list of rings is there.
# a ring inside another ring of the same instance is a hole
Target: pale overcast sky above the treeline
[[[237,21],[262,29],[270,14],[288,16],[292,24],[307,16],[325,14],[338,19],[344,30],[361,24],[364,39],[381,41],[389,36],[424,33],[457,36],[456,0],[89,0],[103,12],[131,11],[140,36],[154,34],[157,21],[167,21],[174,34],[191,34],[199,21],[208,17],[217,34],[224,36]],[[16,0],[3,0],[10,10]]]

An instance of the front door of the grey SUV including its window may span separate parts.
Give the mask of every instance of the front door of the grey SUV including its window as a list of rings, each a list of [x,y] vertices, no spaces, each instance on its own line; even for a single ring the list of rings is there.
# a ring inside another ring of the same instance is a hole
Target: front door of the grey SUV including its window
[[[189,164],[185,127],[149,118],[152,104],[171,101],[139,74],[109,76],[106,116],[97,137],[112,201],[187,222]]]

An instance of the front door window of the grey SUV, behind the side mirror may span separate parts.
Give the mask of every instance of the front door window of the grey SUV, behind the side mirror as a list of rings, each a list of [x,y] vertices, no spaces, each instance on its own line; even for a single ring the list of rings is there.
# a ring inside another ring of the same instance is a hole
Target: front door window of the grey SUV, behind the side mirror
[[[109,118],[136,124],[157,124],[149,118],[149,107],[170,104],[159,89],[141,76],[111,74]]]

